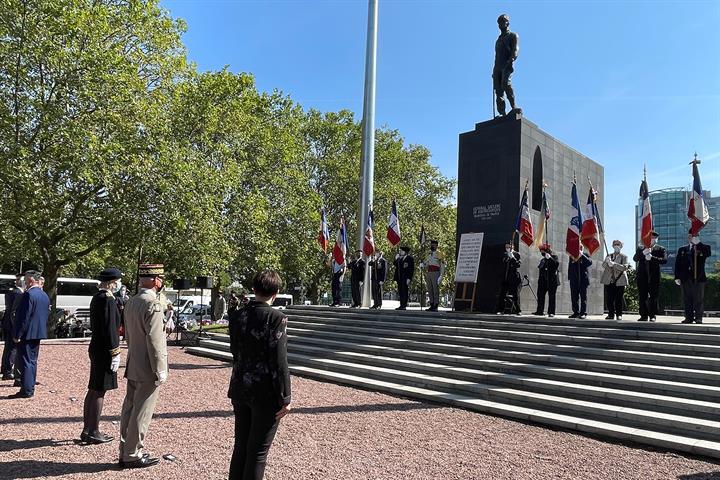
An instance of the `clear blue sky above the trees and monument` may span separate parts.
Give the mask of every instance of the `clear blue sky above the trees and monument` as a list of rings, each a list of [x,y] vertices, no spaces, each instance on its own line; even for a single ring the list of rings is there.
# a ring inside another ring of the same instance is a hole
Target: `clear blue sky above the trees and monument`
[[[508,13],[520,35],[518,105],[604,165],[608,237],[634,242],[644,163],[651,190],[689,186],[697,151],[703,187],[720,195],[720,1],[379,4],[377,125],[427,146],[444,174],[456,176],[458,134],[492,115],[495,19]],[[163,5],[187,22],[201,70],[227,65],[305,108],[361,117],[367,1]]]

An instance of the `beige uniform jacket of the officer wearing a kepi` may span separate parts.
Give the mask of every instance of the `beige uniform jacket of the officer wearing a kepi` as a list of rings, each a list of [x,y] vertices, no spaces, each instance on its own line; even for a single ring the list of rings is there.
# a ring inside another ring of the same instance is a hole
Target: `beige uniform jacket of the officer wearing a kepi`
[[[156,372],[168,371],[164,321],[163,307],[153,289],[141,288],[125,304],[128,380],[152,382],[157,379]]]

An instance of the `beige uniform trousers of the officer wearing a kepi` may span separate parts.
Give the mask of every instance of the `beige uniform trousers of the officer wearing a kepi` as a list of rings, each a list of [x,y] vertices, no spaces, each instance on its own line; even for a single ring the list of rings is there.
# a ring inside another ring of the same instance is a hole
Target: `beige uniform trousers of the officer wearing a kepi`
[[[155,382],[127,381],[120,418],[120,460],[134,462],[143,456],[143,442],[150,426],[160,388]]]

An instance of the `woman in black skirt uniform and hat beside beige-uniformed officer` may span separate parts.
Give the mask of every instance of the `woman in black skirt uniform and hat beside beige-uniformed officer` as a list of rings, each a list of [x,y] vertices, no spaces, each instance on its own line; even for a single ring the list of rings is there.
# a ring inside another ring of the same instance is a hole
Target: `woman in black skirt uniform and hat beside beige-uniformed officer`
[[[90,381],[83,406],[83,431],[80,434],[80,440],[86,443],[107,443],[113,439],[100,432],[100,415],[105,392],[117,388],[120,310],[114,293],[120,290],[121,277],[122,273],[117,268],[106,268],[100,272],[99,291],[90,301]]]

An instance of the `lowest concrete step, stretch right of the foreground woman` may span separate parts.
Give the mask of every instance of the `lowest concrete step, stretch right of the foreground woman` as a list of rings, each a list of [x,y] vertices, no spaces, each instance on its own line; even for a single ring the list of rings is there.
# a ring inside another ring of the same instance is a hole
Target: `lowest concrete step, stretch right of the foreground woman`
[[[677,434],[667,434],[648,429],[627,427],[612,422],[590,420],[569,413],[547,412],[534,408],[477,398],[461,393],[448,393],[433,390],[431,388],[408,386],[398,382],[371,379],[360,375],[340,373],[319,367],[294,365],[290,367],[290,371],[295,375],[306,376],[327,382],[351,385],[373,391],[385,392],[401,397],[409,397],[433,403],[452,405],[467,410],[490,413],[502,417],[550,425],[553,427],[565,428],[593,435],[601,435],[604,437],[628,442],[636,442],[653,447],[720,458],[720,443],[714,441],[701,440]]]

